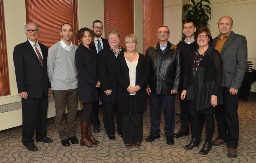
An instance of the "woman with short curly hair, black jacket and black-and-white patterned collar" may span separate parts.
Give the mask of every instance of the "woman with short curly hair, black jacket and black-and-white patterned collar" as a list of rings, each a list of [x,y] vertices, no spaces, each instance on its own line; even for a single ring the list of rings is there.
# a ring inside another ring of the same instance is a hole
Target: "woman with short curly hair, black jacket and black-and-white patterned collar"
[[[115,78],[115,62],[120,53],[124,53],[124,48],[119,46],[120,33],[116,30],[108,32],[110,47],[104,48],[98,54],[98,73],[101,81],[100,98],[103,105],[104,127],[110,140],[115,140],[115,122],[118,134],[122,137],[122,115],[117,110],[117,81]]]

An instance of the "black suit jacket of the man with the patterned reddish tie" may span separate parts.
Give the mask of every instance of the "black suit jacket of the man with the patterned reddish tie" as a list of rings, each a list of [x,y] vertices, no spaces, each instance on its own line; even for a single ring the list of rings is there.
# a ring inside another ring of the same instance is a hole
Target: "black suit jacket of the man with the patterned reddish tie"
[[[36,52],[27,40],[14,47],[13,61],[15,66],[18,93],[27,92],[28,98],[48,96],[50,82],[47,75],[48,48],[39,43],[43,54],[43,67]]]

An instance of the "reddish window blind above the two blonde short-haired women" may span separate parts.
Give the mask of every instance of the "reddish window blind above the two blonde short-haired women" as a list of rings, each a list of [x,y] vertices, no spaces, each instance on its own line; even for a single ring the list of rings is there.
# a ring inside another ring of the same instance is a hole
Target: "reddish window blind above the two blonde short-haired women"
[[[117,30],[119,46],[125,48],[125,37],[134,34],[133,22],[133,0],[104,0],[105,38],[110,30]]]

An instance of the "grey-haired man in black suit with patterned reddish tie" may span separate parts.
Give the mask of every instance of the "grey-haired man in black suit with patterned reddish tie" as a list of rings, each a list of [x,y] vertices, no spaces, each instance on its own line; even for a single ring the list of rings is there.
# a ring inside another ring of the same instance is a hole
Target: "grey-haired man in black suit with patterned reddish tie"
[[[53,142],[46,137],[48,94],[51,92],[47,75],[48,48],[37,41],[37,24],[28,23],[25,33],[28,40],[14,47],[13,60],[22,98],[22,143],[29,151],[37,151],[32,139],[35,125],[37,142]]]

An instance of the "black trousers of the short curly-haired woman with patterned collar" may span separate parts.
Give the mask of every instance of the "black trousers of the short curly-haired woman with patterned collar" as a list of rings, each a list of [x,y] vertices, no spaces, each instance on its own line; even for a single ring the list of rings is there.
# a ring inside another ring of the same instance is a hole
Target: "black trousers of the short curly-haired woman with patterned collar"
[[[122,114],[117,110],[117,104],[102,103],[102,105],[103,123],[107,134],[115,133],[115,121],[118,133],[123,133]]]

